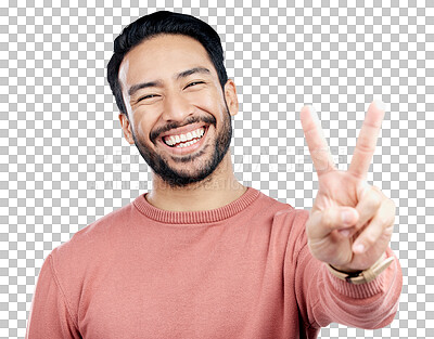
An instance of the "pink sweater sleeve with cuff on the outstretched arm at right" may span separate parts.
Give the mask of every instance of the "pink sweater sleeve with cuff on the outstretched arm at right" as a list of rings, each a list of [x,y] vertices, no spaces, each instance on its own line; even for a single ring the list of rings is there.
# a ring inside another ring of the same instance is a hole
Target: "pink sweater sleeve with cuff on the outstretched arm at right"
[[[370,283],[353,285],[333,276],[311,256],[304,230],[298,240],[295,290],[306,326],[319,328],[333,322],[374,329],[392,323],[403,288],[400,265],[392,249],[386,255],[395,260],[383,273]]]

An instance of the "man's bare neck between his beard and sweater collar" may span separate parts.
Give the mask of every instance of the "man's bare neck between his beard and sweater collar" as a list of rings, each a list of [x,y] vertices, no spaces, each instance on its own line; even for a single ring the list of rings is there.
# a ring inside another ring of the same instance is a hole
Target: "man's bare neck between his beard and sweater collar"
[[[159,209],[169,211],[203,211],[228,205],[241,197],[247,187],[233,174],[230,153],[216,170],[201,182],[183,187],[171,187],[154,174],[153,188],[146,200]]]

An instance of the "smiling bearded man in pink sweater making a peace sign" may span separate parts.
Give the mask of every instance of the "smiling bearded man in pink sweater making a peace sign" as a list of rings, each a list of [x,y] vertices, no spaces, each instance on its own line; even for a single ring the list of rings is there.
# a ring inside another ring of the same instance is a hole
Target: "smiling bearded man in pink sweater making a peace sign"
[[[401,272],[394,204],[366,183],[384,115],[370,105],[348,171],[301,113],[319,178],[308,213],[237,181],[238,113],[218,35],[157,12],[115,40],[108,82],[153,190],[46,259],[27,338],[316,338],[331,322],[390,324]]]

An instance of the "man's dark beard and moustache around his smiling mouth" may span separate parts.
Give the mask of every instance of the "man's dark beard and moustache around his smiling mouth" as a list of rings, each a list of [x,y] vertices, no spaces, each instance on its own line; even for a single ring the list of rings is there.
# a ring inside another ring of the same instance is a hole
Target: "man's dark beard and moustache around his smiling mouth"
[[[225,155],[228,153],[230,142],[232,139],[232,122],[228,106],[226,105],[227,115],[222,120],[222,126],[220,131],[217,133],[214,145],[212,145],[212,156],[201,162],[197,166],[197,169],[194,173],[190,173],[189,171],[178,170],[174,167],[169,166],[166,158],[162,157],[157,153],[152,153],[149,147],[144,145],[144,143],[139,140],[132,130],[132,139],[135,141],[136,147],[139,151],[140,155],[144,159],[144,161],[152,168],[154,173],[163,179],[171,187],[183,187],[191,183],[200,182],[209,177],[218,165],[224,159]],[[214,125],[214,128],[217,130],[217,121],[214,116],[209,117],[191,117],[187,120],[186,123],[168,123],[161,130],[156,130],[150,134],[150,140],[155,144],[155,139],[163,132],[168,131],[174,128],[178,128],[181,126],[186,126],[194,122],[205,122],[208,125]],[[208,127],[209,128],[209,127]],[[205,135],[204,135],[205,136]],[[202,136],[202,138],[204,138]],[[205,145],[200,152],[193,155],[186,155],[179,158],[173,157],[173,161],[175,162],[183,162],[186,167],[189,167],[189,164],[194,159],[203,156],[208,149],[209,145]]]

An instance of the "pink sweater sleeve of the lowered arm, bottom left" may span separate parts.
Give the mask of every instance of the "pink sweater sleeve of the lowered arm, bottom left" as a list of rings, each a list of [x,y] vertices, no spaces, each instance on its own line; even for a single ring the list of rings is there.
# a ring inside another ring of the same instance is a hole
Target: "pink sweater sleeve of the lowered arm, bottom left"
[[[81,338],[52,266],[51,255],[40,270],[27,323],[26,339]]]

